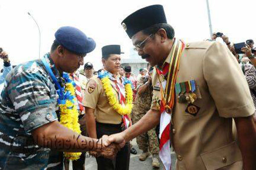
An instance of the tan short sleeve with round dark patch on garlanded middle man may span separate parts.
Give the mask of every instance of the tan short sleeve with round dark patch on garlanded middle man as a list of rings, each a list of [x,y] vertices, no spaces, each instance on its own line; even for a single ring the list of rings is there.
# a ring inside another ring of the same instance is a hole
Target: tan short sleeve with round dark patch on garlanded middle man
[[[86,85],[83,98],[83,106],[96,109],[101,88],[97,78],[91,78]]]

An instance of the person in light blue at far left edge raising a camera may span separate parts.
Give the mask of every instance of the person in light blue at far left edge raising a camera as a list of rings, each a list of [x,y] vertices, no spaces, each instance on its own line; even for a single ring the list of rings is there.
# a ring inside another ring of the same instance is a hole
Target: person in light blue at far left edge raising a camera
[[[0,58],[3,59],[3,73],[0,74],[0,84],[2,84],[5,81],[6,75],[12,70],[12,65],[8,54],[2,48],[0,48]]]

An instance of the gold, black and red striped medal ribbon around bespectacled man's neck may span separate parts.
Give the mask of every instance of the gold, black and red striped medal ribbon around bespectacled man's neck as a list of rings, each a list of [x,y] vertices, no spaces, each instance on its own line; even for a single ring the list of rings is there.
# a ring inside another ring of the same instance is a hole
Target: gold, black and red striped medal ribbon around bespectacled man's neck
[[[161,104],[163,105],[162,109],[165,109],[167,113],[172,112],[172,108],[175,102],[175,82],[177,73],[179,70],[180,56],[185,47],[184,42],[177,40],[174,42],[171,58],[169,65],[166,64],[163,68],[163,71],[156,69],[158,74],[158,79],[160,81],[160,91],[161,91]],[[163,81],[165,79],[164,72],[168,68],[166,87],[163,87]],[[186,89],[186,88],[185,88]]]

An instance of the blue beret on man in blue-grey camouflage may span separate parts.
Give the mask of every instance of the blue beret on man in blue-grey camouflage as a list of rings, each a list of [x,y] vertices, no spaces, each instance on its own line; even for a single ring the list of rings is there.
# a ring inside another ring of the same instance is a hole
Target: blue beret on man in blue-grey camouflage
[[[55,40],[67,50],[84,55],[93,51],[96,42],[77,28],[64,26],[55,32]]]

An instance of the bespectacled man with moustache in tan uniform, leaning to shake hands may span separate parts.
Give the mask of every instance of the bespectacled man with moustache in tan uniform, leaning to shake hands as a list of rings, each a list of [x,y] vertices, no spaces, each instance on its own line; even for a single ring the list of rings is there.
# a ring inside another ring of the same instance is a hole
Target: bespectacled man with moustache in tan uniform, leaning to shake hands
[[[173,59],[171,51],[175,48],[172,45],[178,40],[166,22],[163,6],[142,8],[128,16],[122,26],[140,56],[151,65],[157,65],[158,71],[165,72],[163,68],[167,65],[167,73],[173,73],[168,65]],[[235,57],[218,42],[186,44],[180,54],[176,83],[185,85],[185,91],[181,94],[175,91],[175,105],[169,112],[172,117],[170,140],[177,155],[176,169],[241,170],[244,167],[255,170],[255,108]],[[110,136],[106,145],[129,141],[160,122],[161,83],[166,79],[165,75],[157,75],[154,71],[151,110],[124,132]],[[195,82],[194,100],[187,91],[190,80]],[[232,138],[232,117],[236,122],[239,147]]]

